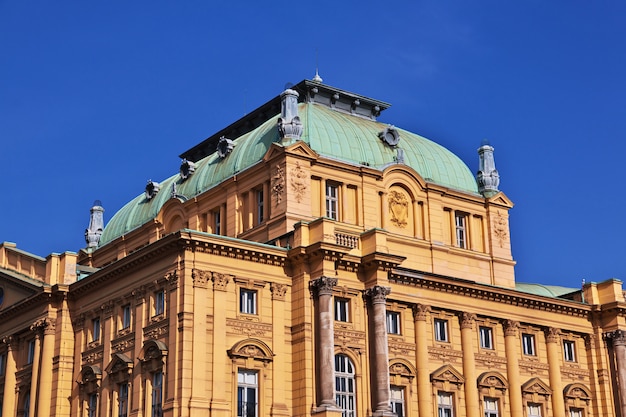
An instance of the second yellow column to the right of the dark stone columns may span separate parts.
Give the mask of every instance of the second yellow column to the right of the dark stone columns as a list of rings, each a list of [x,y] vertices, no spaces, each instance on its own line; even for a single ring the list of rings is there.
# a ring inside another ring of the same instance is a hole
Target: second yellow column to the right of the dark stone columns
[[[476,314],[461,314],[461,345],[463,349],[463,375],[465,376],[465,410],[467,417],[479,417],[478,386],[476,385],[476,361],[472,333]]]

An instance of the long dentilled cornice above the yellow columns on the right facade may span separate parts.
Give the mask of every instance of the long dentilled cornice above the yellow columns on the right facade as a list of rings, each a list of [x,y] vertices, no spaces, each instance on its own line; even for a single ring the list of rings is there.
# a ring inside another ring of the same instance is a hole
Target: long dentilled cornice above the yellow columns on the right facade
[[[520,293],[508,288],[488,286],[474,281],[418,271],[394,269],[389,274],[389,281],[418,288],[461,294],[477,300],[493,301],[576,317],[588,317],[592,311],[592,306],[581,305],[569,300],[559,299],[557,301],[547,297]]]

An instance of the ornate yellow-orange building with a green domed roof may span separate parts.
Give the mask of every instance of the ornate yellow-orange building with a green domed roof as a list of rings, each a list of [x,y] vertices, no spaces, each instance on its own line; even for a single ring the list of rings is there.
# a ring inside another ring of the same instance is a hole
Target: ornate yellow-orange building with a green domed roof
[[[478,174],[302,81],[181,155],[87,247],[0,246],[7,416],[626,416],[626,302],[515,281]]]

